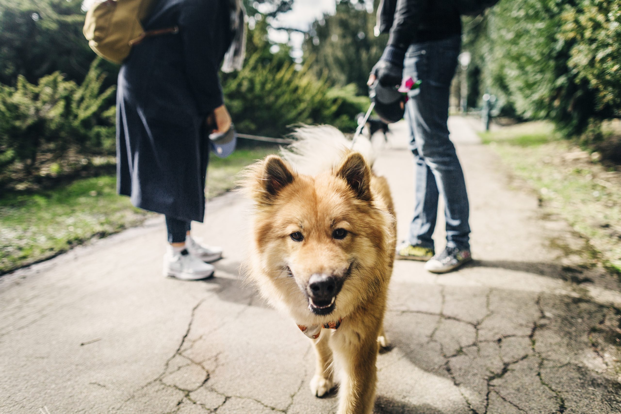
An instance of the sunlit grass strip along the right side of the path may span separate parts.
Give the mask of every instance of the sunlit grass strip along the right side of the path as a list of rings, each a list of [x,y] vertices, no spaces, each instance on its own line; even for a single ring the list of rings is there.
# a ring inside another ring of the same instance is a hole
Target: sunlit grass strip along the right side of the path
[[[560,215],[597,250],[597,260],[621,273],[621,174],[560,140],[546,122],[527,122],[481,133],[484,143],[538,192],[543,206]],[[584,252],[585,257],[589,252]]]

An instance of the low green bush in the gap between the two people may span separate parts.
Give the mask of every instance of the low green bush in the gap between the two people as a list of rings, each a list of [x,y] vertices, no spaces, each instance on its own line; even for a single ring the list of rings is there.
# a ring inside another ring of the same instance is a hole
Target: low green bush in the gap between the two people
[[[353,85],[336,83],[327,71],[315,70],[314,55],[292,58],[289,45],[271,42],[268,17],[257,13],[253,19],[243,69],[222,74],[225,102],[237,130],[280,137],[292,125],[332,124],[353,132],[368,98],[357,96]]]

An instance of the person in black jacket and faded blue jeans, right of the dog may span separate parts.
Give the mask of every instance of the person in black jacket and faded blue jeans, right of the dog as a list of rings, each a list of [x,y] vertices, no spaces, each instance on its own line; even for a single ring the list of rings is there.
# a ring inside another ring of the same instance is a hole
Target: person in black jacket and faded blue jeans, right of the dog
[[[416,205],[408,240],[399,259],[427,261],[425,269],[444,273],[471,260],[466,182],[448,136],[448,97],[461,48],[461,16],[454,0],[383,0],[376,32],[389,32],[388,45],[369,84],[420,81],[408,92],[406,121],[416,163]],[[446,248],[435,254],[438,197],[445,202]]]

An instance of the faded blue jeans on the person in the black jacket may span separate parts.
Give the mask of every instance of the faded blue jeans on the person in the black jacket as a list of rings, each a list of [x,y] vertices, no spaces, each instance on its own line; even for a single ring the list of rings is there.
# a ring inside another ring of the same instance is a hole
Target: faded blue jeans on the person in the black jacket
[[[415,161],[416,205],[410,225],[412,245],[433,248],[438,197],[445,202],[447,245],[469,249],[468,194],[455,146],[448,138],[448,96],[461,37],[413,43],[404,61],[404,78],[420,79],[409,92],[406,121]]]

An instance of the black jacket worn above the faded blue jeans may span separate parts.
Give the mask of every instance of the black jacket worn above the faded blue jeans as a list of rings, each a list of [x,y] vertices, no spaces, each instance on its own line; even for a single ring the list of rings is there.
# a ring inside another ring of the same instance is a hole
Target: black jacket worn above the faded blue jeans
[[[406,49],[411,43],[441,40],[461,34],[455,0],[382,0],[378,9],[381,33],[388,45]]]

